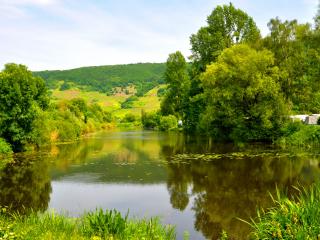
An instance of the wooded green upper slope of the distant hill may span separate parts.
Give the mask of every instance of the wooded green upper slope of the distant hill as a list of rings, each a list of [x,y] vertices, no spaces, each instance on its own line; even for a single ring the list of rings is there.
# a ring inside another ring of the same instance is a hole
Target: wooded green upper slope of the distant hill
[[[86,91],[113,94],[115,88],[134,86],[136,95],[142,96],[164,83],[164,63],[137,63],[82,67],[70,70],[34,72],[42,77],[50,89],[67,90],[79,87]]]

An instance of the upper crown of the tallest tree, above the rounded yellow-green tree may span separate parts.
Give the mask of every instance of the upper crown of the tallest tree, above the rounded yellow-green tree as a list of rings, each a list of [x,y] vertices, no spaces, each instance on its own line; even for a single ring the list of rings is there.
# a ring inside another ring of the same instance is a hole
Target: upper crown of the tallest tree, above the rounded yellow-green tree
[[[208,16],[207,23],[208,26],[190,37],[192,60],[201,72],[223,49],[238,43],[254,44],[260,39],[260,31],[253,19],[232,3],[217,6]]]

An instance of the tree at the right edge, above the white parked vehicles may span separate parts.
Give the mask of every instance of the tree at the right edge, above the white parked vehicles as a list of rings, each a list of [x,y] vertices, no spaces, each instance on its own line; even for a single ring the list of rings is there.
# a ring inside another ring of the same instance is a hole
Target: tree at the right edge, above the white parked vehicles
[[[268,26],[270,34],[263,42],[275,55],[284,96],[293,103],[297,112],[317,111],[313,107],[313,97],[320,90],[319,44],[311,25],[275,18]]]

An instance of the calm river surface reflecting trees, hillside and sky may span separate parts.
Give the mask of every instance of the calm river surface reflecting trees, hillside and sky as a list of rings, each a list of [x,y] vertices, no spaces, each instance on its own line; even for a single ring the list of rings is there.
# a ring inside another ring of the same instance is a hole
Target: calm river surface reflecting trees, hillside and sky
[[[14,156],[0,171],[0,205],[79,216],[98,207],[160,216],[178,239],[246,239],[249,220],[320,176],[315,151],[250,145],[237,149],[179,133],[105,132]]]

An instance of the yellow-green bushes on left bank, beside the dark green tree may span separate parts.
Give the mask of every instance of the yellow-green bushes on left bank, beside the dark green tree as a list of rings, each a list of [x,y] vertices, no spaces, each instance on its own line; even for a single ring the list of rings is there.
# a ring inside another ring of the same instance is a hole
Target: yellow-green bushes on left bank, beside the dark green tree
[[[38,146],[74,141],[84,134],[107,128],[112,121],[109,112],[83,99],[52,103],[33,122],[31,139]]]

